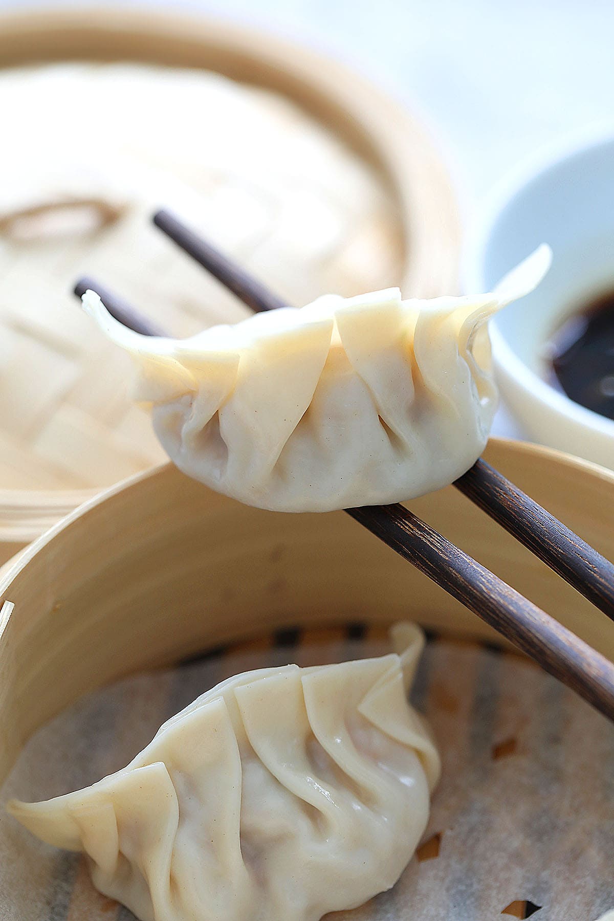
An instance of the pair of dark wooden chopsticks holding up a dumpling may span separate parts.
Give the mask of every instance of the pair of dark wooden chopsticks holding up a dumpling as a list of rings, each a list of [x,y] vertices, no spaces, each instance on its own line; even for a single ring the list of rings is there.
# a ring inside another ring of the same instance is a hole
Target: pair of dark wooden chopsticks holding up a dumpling
[[[252,310],[287,306],[176,216],[159,211],[154,223]],[[167,334],[90,278],[77,283],[75,294],[81,297],[88,288],[98,293],[125,326],[145,335]],[[476,461],[455,485],[614,620],[614,565],[593,547],[485,461]],[[614,720],[614,664],[584,640],[400,504],[346,511],[544,670]]]

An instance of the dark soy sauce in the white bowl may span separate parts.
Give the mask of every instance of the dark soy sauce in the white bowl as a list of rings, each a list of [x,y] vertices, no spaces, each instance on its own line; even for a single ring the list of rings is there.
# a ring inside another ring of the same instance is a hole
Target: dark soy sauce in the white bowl
[[[567,396],[614,419],[614,291],[563,323],[550,346],[554,374]]]

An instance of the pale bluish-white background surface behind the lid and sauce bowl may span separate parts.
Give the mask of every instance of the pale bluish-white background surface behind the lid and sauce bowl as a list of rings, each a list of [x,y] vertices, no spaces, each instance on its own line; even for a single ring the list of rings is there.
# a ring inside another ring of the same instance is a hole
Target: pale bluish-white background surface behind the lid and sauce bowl
[[[22,10],[55,5],[0,0],[0,7]],[[452,170],[466,227],[520,159],[586,125],[614,124],[614,3],[608,0],[172,0],[172,6],[247,20],[335,53],[420,112]],[[520,434],[504,412],[494,431]]]

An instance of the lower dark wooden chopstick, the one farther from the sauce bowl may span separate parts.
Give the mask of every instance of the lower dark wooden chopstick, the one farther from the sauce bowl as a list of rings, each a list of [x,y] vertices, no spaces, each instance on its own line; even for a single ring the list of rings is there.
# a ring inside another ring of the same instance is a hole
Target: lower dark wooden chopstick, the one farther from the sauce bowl
[[[218,254],[220,255],[220,254]],[[224,258],[224,257],[221,257]],[[75,293],[88,286],[82,280]],[[99,286],[93,286],[93,290]],[[105,291],[105,306],[114,316],[136,320],[139,332],[159,330],[123,301]],[[104,299],[104,298],[103,298]],[[595,649],[541,611],[469,554],[401,505],[346,509],[359,521],[454,598],[478,614],[501,635],[535,659],[544,670],[614,720],[614,665]]]

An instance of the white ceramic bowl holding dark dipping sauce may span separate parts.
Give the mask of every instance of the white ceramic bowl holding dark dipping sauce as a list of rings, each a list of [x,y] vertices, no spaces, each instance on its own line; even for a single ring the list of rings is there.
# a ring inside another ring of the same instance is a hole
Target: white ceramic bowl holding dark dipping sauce
[[[467,290],[492,290],[542,242],[553,251],[550,273],[491,324],[502,395],[536,441],[614,468],[614,421],[551,386],[545,359],[561,321],[614,288],[614,128],[541,153],[501,183],[469,242]]]

